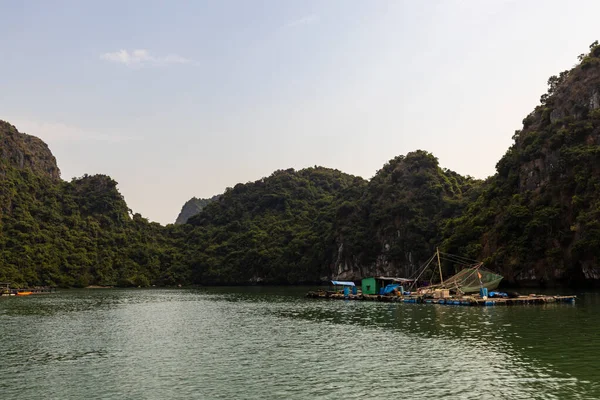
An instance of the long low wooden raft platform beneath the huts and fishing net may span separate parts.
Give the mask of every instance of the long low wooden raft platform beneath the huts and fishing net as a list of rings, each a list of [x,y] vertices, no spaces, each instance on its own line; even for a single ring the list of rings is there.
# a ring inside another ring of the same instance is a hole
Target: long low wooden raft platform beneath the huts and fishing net
[[[527,295],[514,298],[490,297],[482,299],[479,296],[451,297],[446,299],[430,299],[423,296],[380,296],[368,294],[350,294],[344,296],[343,293],[327,291],[311,291],[306,294],[311,299],[334,299],[334,300],[362,300],[362,301],[382,301],[388,303],[420,303],[420,304],[440,304],[449,306],[513,306],[526,304],[547,304],[547,303],[574,303],[577,296],[546,296],[546,295]]]

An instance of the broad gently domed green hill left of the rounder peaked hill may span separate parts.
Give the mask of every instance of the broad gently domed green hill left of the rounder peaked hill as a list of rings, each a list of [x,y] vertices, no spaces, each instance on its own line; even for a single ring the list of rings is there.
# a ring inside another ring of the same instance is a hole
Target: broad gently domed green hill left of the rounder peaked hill
[[[365,183],[315,167],[276,171],[226,190],[189,221],[194,282],[298,283],[328,277],[337,205]]]

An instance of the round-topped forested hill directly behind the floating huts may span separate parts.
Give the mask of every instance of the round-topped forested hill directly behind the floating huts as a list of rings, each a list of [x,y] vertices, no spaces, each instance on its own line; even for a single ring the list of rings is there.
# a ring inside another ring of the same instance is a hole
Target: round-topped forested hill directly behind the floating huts
[[[457,217],[479,181],[443,170],[419,150],[386,163],[362,193],[338,209],[339,256],[349,276],[361,266],[372,272],[411,275],[443,240],[445,221]],[[368,272],[365,271],[365,274]]]

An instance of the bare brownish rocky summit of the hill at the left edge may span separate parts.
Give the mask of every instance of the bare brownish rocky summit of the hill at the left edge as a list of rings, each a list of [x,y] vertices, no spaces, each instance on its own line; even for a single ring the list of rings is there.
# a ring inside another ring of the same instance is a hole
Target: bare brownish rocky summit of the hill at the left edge
[[[46,143],[0,120],[0,173],[2,165],[28,169],[55,181],[60,179],[56,159]]]

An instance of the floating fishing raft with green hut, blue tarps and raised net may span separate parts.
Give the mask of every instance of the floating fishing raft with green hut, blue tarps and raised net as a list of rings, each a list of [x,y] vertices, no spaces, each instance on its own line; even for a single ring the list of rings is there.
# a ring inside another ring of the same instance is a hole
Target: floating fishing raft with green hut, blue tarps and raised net
[[[441,260],[462,269],[444,279]],[[435,262],[437,261],[437,263]],[[424,276],[431,273],[426,281]],[[331,281],[330,290],[316,290],[306,297],[315,299],[363,300],[454,306],[508,306],[546,303],[574,303],[576,296],[551,296],[497,290],[503,276],[483,268],[483,263],[439,250],[411,278],[368,277],[353,281]],[[433,283],[434,280],[437,282]]]

